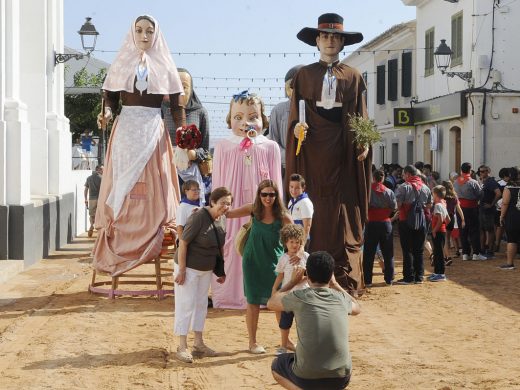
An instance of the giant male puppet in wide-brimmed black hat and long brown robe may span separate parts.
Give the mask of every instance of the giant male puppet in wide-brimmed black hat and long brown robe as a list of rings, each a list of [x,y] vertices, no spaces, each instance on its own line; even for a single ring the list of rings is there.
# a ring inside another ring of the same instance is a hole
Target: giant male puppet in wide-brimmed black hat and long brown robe
[[[368,148],[354,143],[348,115],[367,115],[365,83],[358,71],[339,62],[339,53],[345,45],[361,42],[363,35],[344,31],[341,16],[324,14],[318,28],[304,28],[297,37],[318,47],[320,61],[304,66],[293,80],[285,188],[291,174],[305,177],[314,204],[309,252],[329,252],[338,282],[354,294],[362,293],[371,156]],[[304,123],[300,100],[305,102]],[[298,136],[305,141],[296,156]]]

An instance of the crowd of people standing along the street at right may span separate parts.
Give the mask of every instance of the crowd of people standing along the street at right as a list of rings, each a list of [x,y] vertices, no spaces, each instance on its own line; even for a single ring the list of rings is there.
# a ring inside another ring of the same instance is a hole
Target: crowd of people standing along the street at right
[[[364,277],[368,286],[372,282],[369,268],[378,252],[385,260],[385,281],[391,284],[388,265],[393,271],[393,262],[388,259],[393,253],[388,248],[394,221],[403,252],[403,277],[396,281],[399,284],[424,281],[424,250],[434,267],[428,279],[437,282],[446,280],[445,266],[451,265],[453,259],[492,259],[495,252],[501,250],[504,239],[507,261],[499,268],[515,269],[518,243],[515,226],[520,222],[517,215],[520,210],[515,203],[517,167],[501,168],[498,179],[491,175],[488,166],[481,165],[475,171],[465,162],[459,172],[451,172],[448,180],[441,181],[431,165],[419,161],[404,168],[398,164],[384,164],[380,169],[373,167],[372,176],[364,250]],[[395,194],[397,205],[392,202],[391,193]],[[387,209],[383,207],[385,200]],[[376,240],[373,229],[378,224],[380,231],[387,234],[379,233],[380,238]]]

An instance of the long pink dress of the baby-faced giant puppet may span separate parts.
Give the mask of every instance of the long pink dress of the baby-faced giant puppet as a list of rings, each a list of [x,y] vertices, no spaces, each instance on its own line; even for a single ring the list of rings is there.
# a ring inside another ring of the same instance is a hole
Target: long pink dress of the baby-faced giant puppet
[[[242,150],[242,137],[231,136],[215,146],[213,157],[212,188],[227,187],[233,195],[233,208],[253,203],[258,184],[271,179],[282,193],[282,172],[280,148],[274,141],[257,136],[255,144],[247,151]],[[235,236],[240,227],[250,217],[228,218],[226,221],[226,242],[224,244],[224,267],[226,281],[218,284],[213,278],[211,284],[213,306],[226,309],[244,309],[244,283],[242,277],[242,257],[234,246]]]

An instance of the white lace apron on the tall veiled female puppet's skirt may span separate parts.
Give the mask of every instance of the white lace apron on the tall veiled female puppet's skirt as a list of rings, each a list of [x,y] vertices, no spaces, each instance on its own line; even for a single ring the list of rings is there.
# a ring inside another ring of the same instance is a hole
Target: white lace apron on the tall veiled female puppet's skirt
[[[123,106],[112,142],[112,190],[107,204],[117,219],[126,195],[132,190],[159,141],[161,109]]]

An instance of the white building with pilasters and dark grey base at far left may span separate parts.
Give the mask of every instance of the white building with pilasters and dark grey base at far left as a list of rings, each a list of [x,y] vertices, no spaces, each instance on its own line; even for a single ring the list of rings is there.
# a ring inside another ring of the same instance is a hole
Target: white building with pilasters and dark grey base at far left
[[[23,269],[76,232],[63,0],[0,0],[0,18],[0,259]]]

